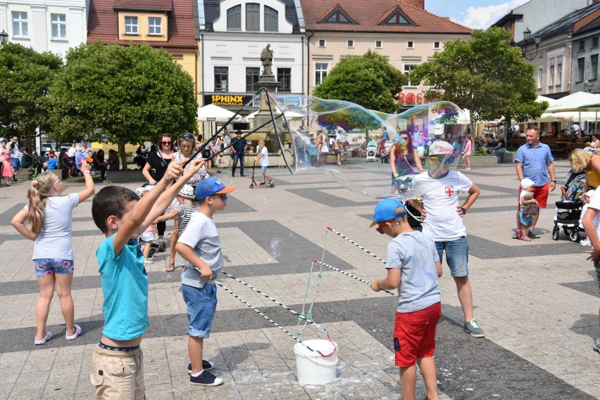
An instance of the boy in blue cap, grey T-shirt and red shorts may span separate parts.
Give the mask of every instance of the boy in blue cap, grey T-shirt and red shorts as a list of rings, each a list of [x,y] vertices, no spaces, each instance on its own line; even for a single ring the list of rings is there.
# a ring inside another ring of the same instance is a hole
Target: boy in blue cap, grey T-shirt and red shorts
[[[428,400],[439,400],[433,353],[435,329],[442,316],[438,278],[442,264],[435,242],[408,224],[406,209],[398,200],[382,200],[373,212],[377,232],[393,239],[387,245],[387,278],[371,282],[371,289],[398,289],[394,325],[396,366],[400,367],[402,399],[415,399],[418,363]]]

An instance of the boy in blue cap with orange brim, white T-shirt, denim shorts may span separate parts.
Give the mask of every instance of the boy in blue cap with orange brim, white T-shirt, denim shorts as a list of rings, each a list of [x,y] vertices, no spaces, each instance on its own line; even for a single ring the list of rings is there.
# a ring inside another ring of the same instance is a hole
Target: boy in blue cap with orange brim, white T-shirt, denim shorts
[[[235,186],[225,187],[216,178],[206,178],[196,186],[196,200],[200,202],[198,212],[192,214],[185,231],[177,240],[175,250],[185,264],[181,275],[182,294],[187,305],[189,319],[187,371],[192,385],[218,386],[221,378],[208,372],[213,364],[202,359],[204,338],[211,333],[211,325],[217,309],[217,287],[213,279],[223,268],[223,253],[213,214],[223,211],[227,205],[227,194]]]

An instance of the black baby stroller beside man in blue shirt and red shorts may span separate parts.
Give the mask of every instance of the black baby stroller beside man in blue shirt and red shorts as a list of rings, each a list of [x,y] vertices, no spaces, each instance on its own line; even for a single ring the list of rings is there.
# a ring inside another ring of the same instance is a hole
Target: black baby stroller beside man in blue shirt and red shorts
[[[580,240],[579,233],[584,231],[579,226],[583,209],[583,202],[580,196],[584,191],[586,180],[585,173],[572,173],[568,177],[567,183],[565,183],[568,198],[565,199],[561,196],[561,201],[555,203],[554,228],[552,228],[553,240],[558,240],[561,228],[563,228],[563,232],[572,242]]]

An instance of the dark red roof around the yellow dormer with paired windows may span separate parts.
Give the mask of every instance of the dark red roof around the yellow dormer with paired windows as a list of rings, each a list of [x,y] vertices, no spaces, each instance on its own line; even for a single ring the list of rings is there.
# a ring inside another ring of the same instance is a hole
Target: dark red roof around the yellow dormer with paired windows
[[[172,11],[168,13],[166,41],[121,40],[118,37],[118,10]],[[91,0],[87,22],[87,41],[104,44],[149,44],[157,48],[196,49],[194,10],[189,0]]]

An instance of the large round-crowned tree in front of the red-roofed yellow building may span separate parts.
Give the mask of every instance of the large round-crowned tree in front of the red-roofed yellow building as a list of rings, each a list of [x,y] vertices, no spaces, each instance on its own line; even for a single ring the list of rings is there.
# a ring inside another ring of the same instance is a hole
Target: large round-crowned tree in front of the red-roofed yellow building
[[[125,144],[198,130],[192,77],[147,45],[96,41],[70,49],[50,97],[56,140],[117,143],[124,168]]]

